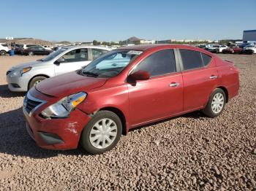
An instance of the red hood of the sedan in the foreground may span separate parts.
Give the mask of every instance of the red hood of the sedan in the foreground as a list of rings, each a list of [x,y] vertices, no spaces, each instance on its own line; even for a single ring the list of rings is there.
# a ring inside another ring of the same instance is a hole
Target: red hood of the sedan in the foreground
[[[57,77],[45,79],[35,88],[46,95],[65,97],[80,91],[86,92],[101,87],[106,81],[107,79],[105,78],[85,77],[77,74],[76,71],[72,71]]]

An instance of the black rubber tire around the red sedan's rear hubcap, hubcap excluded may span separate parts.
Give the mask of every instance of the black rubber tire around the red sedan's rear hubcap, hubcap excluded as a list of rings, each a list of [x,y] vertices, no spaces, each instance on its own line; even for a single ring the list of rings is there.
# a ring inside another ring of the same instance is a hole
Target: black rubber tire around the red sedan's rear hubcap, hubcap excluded
[[[214,110],[212,109],[212,102],[213,102],[213,99],[214,99],[214,96],[217,95],[217,93],[221,93],[222,96],[223,96],[223,99],[224,99],[224,104],[222,106],[222,109],[219,111],[219,112],[214,112]],[[213,93],[211,93],[211,96],[208,100],[208,104],[206,105],[206,107],[202,110],[203,114],[206,114],[206,116],[208,117],[217,117],[219,116],[219,114],[221,114],[223,112],[223,109],[225,108],[225,104],[226,104],[226,101],[227,101],[227,97],[226,97],[226,94],[225,92],[220,89],[220,88],[217,88],[216,90],[214,90]]]

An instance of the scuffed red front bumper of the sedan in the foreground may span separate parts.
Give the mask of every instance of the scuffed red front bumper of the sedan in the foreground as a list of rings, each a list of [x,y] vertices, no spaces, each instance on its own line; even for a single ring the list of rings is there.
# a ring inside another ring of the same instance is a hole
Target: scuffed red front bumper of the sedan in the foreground
[[[38,112],[27,114],[26,129],[39,147],[45,149],[75,149],[78,147],[80,133],[91,117],[75,109],[64,119],[47,120],[39,116]]]

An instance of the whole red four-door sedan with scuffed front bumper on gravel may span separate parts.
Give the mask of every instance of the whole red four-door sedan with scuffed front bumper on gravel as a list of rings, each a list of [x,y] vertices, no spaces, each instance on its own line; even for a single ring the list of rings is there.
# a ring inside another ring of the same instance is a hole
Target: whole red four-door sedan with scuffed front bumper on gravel
[[[197,47],[121,47],[86,68],[45,79],[27,93],[27,130],[39,147],[99,154],[122,133],[195,110],[222,113],[238,95],[238,69]]]

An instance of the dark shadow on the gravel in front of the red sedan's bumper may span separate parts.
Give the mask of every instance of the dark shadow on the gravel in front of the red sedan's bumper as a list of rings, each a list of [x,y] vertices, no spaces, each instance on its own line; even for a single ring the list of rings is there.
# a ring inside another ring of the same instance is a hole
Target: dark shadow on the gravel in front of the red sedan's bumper
[[[32,158],[48,158],[57,155],[89,155],[83,149],[49,150],[37,146],[26,132],[22,108],[0,114],[0,152],[8,155]]]

